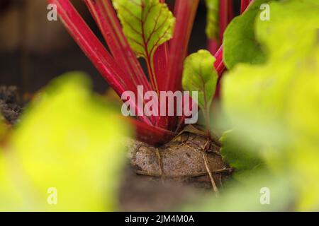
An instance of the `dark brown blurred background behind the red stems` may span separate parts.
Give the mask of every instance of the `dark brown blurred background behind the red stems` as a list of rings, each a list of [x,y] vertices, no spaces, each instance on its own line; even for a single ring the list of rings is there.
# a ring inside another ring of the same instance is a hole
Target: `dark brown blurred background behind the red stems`
[[[101,37],[83,1],[72,2]],[[234,0],[234,4],[238,9],[240,0]],[[205,27],[206,7],[201,0],[189,52],[206,49]],[[104,93],[108,87],[62,23],[47,20],[45,0],[0,0],[0,85],[16,85],[21,94],[35,93],[52,78],[67,71],[89,73],[94,90],[99,93]]]

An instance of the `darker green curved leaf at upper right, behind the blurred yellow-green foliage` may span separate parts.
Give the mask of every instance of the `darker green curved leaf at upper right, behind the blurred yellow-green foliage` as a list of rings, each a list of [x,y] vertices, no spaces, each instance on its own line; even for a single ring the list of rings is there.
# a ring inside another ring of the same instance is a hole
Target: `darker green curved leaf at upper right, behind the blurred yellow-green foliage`
[[[266,56],[254,33],[254,20],[260,5],[269,0],[256,0],[241,16],[234,18],[225,30],[224,61],[228,69],[238,63],[262,64]]]

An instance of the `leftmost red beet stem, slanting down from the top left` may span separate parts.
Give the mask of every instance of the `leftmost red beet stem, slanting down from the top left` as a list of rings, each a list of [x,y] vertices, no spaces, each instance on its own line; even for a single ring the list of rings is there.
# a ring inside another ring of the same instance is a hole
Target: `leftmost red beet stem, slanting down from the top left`
[[[106,51],[103,44],[101,44],[89,26],[86,25],[83,18],[79,15],[69,0],[47,1],[57,5],[57,11],[60,15],[60,19],[62,20],[62,23],[65,24],[69,34],[72,35],[84,54],[86,54],[94,66],[96,66],[96,69],[98,69],[103,78],[105,78],[116,93],[118,93],[121,97],[121,94],[126,90],[134,90],[135,85],[132,83],[130,78],[125,75],[125,73],[121,70],[121,66],[119,66],[113,57],[111,57],[111,54]],[[135,109],[137,109],[138,112],[143,110],[138,109],[135,102],[133,102],[132,105],[135,106]],[[145,116],[140,117],[140,119],[146,124],[152,124]]]

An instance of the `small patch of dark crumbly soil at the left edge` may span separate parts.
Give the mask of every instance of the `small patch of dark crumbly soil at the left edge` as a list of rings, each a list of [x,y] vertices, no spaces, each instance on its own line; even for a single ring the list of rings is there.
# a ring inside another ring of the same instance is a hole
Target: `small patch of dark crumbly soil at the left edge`
[[[16,124],[23,109],[16,86],[0,86],[0,112],[9,124]]]

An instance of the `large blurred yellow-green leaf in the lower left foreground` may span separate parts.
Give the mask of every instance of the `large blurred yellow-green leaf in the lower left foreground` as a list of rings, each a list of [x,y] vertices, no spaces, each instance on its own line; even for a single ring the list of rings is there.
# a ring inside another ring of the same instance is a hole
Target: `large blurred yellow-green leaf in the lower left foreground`
[[[87,83],[81,73],[57,78],[23,115],[0,156],[0,197],[13,197],[0,210],[116,210],[127,125]]]

